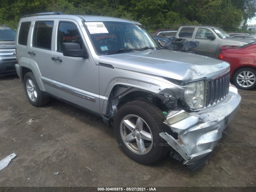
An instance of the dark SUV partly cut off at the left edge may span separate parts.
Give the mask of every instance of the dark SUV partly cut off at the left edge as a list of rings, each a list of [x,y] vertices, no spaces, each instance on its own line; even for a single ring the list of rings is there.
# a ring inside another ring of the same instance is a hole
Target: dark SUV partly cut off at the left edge
[[[15,38],[16,32],[14,30],[0,25],[0,76],[16,74]]]

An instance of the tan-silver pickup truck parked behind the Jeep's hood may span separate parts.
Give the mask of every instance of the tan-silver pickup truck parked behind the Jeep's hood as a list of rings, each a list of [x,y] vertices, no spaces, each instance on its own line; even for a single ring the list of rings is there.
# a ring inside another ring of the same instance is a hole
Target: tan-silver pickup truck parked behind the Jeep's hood
[[[210,26],[181,26],[175,37],[198,41],[198,47],[194,51],[212,58],[218,58],[221,46],[242,46],[252,42],[252,40],[232,38],[224,30]]]

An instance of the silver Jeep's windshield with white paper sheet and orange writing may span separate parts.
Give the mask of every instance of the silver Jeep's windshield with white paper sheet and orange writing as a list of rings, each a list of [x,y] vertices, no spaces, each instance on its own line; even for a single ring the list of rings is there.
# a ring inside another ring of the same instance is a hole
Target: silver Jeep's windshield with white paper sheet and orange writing
[[[84,22],[98,54],[118,54],[160,48],[141,25],[128,22]]]

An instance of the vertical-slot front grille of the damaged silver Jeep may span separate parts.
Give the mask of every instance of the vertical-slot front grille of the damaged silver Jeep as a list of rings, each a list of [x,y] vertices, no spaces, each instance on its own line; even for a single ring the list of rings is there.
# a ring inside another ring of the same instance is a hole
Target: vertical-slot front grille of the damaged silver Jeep
[[[206,107],[221,102],[229,92],[229,73],[206,80]]]

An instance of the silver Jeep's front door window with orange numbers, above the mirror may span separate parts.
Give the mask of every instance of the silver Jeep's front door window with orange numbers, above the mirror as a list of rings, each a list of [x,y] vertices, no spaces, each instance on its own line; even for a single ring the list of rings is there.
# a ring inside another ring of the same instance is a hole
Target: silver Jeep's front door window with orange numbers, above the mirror
[[[76,42],[83,48],[83,41],[76,24],[60,22],[58,25],[57,51],[62,51],[62,43]]]

